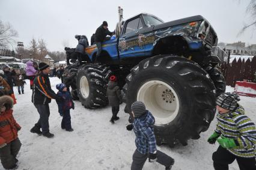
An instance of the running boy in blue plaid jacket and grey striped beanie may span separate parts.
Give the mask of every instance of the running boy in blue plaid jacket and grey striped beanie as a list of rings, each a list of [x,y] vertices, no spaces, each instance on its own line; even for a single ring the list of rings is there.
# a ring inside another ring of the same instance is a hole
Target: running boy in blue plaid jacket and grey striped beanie
[[[156,149],[156,138],[154,136],[154,117],[147,111],[144,103],[134,102],[132,114],[135,118],[132,127],[136,139],[136,150],[132,156],[132,170],[141,170],[148,159],[149,162],[158,162],[170,170],[174,165],[174,159]],[[128,130],[128,129],[127,129]]]

